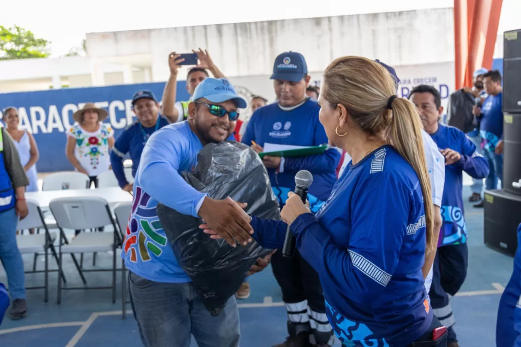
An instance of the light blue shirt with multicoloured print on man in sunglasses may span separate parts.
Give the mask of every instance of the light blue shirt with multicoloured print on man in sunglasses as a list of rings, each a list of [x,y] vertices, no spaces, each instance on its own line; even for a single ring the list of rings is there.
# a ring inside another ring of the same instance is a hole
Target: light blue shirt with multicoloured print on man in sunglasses
[[[179,175],[193,171],[203,144],[188,121],[154,132],[146,142],[134,180],[132,213],[121,257],[127,268],[156,282],[190,282],[179,266],[156,214],[160,202],[197,217],[205,197]]]

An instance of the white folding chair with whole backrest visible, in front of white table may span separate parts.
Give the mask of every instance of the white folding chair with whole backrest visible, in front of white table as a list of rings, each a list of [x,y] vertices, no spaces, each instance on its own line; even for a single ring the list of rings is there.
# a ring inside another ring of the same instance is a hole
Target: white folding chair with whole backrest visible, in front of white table
[[[116,222],[112,217],[108,202],[101,197],[63,197],[49,203],[51,212],[56,219],[60,230],[58,272],[63,272],[63,254],[71,254],[80,273],[83,283],[86,284],[83,272],[112,271],[111,287],[77,287],[62,288],[61,277],[58,276],[58,304],[61,303],[61,291],[66,289],[112,289],[112,302],[116,302],[116,248],[120,244],[120,237]],[[80,232],[68,242],[63,229],[94,229],[107,225],[114,227],[114,232]],[[113,251],[113,267],[111,269],[81,269],[73,253],[108,252]]]

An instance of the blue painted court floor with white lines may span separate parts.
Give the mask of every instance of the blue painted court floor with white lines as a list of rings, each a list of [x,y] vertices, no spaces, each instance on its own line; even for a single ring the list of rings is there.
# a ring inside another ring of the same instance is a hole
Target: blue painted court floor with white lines
[[[465,200],[469,192],[469,188],[465,187]],[[495,345],[500,294],[511,276],[513,259],[483,245],[482,209],[475,209],[469,203],[466,205],[469,267],[465,284],[452,301],[455,330],[462,347],[490,347]],[[110,266],[111,259],[109,254],[98,254],[96,267]],[[26,269],[30,269],[32,256],[24,256],[24,261]],[[92,256],[85,254],[84,262],[85,267],[92,265]],[[51,268],[56,268],[54,261],[49,264]],[[41,259],[38,266],[43,268]],[[66,265],[66,276],[71,285],[80,286],[81,280],[70,260]],[[90,272],[86,277],[90,285],[110,283],[110,273]],[[3,268],[0,268],[0,281],[6,283]],[[27,286],[41,285],[43,275],[28,274],[26,282]],[[118,286],[119,282],[118,275]],[[63,301],[57,305],[56,272],[49,275],[49,283],[48,303],[43,301],[43,290],[31,290],[28,291],[27,318],[13,321],[7,313],[0,329],[0,346],[142,346],[132,315],[129,314],[126,320],[121,318],[119,288],[118,302],[114,305],[110,290],[64,291]],[[286,336],[286,314],[271,269],[251,277],[250,283],[252,295],[240,301],[241,345],[266,347],[281,342]],[[191,347],[195,346],[193,342]]]

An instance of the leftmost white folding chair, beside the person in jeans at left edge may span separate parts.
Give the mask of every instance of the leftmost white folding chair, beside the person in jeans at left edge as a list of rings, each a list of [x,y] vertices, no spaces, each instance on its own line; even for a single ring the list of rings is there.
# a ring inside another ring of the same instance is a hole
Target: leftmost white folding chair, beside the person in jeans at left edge
[[[42,210],[40,209],[40,205],[37,201],[27,200],[27,207],[29,209],[29,214],[18,221],[18,225],[16,230],[24,230],[24,229],[33,229],[33,228],[43,228],[45,230],[44,234],[19,234],[16,236],[16,244],[18,245],[18,249],[21,254],[28,253],[39,253],[43,252],[45,255],[45,270],[36,271],[26,271],[27,274],[31,274],[34,272],[44,272],[45,276],[45,284],[43,287],[28,287],[26,289],[44,289],[45,290],[45,302],[49,299],[49,261],[48,261],[48,250],[51,249],[54,258],[56,259],[56,264],[58,264],[58,256],[56,254],[56,250],[54,248],[53,242],[56,240],[56,233],[49,232],[47,225],[45,224],[45,220],[43,218]],[[54,270],[56,271],[56,270]],[[65,278],[64,278],[65,281]]]

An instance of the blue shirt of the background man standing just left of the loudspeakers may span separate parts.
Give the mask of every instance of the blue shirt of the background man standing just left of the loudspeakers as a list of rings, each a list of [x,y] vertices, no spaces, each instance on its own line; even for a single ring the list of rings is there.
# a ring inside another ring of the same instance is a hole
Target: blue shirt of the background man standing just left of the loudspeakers
[[[479,132],[485,139],[485,149],[490,152],[494,152],[499,140],[503,139],[502,97],[503,93],[489,95],[481,107]]]

